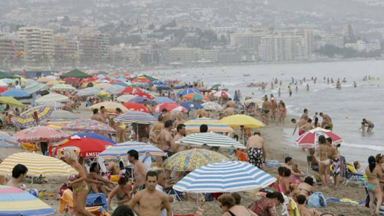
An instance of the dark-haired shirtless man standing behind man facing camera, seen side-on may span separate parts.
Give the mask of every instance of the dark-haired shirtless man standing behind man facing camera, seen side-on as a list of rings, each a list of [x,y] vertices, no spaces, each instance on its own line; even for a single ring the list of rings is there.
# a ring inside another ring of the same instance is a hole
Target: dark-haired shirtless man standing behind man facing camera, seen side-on
[[[128,161],[133,165],[133,175],[135,178],[135,183],[133,184],[131,195],[137,189],[139,191],[145,188],[145,176],[147,175],[147,169],[139,160],[139,153],[136,150],[129,150],[128,152]]]

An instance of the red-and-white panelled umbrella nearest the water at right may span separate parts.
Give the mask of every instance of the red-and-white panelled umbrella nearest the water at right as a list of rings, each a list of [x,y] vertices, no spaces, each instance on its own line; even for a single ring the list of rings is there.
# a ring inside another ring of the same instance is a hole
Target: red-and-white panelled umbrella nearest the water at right
[[[333,145],[337,145],[343,142],[343,139],[338,135],[334,134],[330,130],[316,127],[315,129],[309,130],[295,140],[294,144],[300,148],[313,148],[319,145],[319,136],[324,135],[325,138],[331,138]]]

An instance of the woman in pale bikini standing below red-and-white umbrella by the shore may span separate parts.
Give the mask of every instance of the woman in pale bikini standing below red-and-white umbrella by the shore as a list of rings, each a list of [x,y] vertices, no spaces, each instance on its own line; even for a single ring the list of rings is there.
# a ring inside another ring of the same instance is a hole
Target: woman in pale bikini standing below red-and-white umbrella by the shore
[[[325,137],[323,135],[320,135],[319,147],[317,148],[317,156],[319,157],[319,176],[325,188],[328,188],[329,180],[329,174],[327,172],[329,167],[328,151],[329,148],[325,144]]]

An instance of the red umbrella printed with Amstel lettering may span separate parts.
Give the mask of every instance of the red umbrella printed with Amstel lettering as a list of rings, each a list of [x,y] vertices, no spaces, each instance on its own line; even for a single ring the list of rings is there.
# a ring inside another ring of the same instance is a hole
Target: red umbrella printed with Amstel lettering
[[[53,157],[56,157],[56,155],[63,157],[65,151],[73,150],[78,157],[96,158],[108,145],[112,145],[112,143],[89,137],[81,138],[75,135],[64,140],[57,146],[50,147],[49,154]]]

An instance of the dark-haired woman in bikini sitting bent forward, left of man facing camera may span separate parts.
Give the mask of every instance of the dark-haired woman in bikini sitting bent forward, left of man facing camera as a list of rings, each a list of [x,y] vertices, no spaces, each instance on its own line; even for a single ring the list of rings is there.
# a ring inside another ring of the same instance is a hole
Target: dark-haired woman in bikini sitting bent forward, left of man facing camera
[[[129,193],[132,190],[132,186],[128,183],[128,178],[126,176],[123,176],[119,178],[119,185],[113,188],[111,193],[109,193],[108,196],[108,207],[111,210],[111,201],[116,196],[118,199],[118,205],[121,204],[128,204],[129,200],[131,200],[131,197],[129,197]]]

